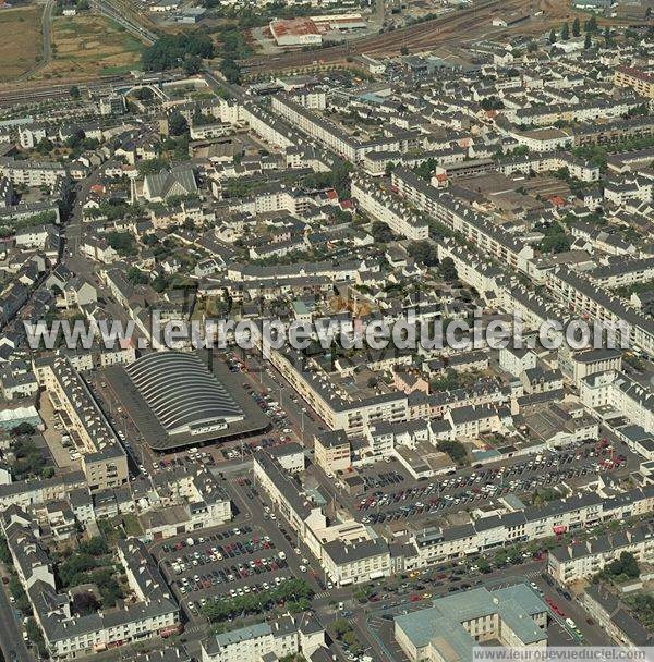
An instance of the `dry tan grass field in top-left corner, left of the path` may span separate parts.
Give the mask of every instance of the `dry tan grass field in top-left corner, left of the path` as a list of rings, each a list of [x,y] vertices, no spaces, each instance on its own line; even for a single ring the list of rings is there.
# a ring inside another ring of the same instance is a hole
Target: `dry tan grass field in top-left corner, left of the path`
[[[40,57],[41,7],[0,11],[0,83],[9,83],[29,71]]]

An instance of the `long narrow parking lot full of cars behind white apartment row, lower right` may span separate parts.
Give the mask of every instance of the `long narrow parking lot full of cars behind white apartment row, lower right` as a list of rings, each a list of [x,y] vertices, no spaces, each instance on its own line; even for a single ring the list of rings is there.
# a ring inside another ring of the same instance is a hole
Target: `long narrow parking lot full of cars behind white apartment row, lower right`
[[[405,482],[399,471],[384,471],[374,478],[364,476],[366,493],[346,499],[350,499],[364,524],[383,524],[460,510],[465,504],[481,505],[507,494],[531,497],[537,488],[555,488],[565,481],[619,470],[626,464],[627,455],[610,443],[588,443],[533,459],[525,457],[507,467],[477,466],[431,482],[412,481],[399,489],[398,485]]]

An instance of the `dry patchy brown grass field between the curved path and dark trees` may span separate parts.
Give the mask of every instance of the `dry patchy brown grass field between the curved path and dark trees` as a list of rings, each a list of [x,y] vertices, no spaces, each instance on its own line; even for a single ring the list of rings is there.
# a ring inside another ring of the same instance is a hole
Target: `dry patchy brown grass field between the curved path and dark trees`
[[[141,66],[144,45],[114,21],[97,14],[57,16],[52,61],[36,77],[85,78],[125,73]]]

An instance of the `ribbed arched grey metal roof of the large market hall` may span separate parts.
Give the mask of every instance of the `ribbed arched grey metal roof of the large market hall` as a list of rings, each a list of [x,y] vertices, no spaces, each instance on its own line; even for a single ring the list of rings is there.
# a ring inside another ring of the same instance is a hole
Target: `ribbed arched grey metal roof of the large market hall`
[[[232,396],[196,354],[156,352],[125,370],[170,434],[243,418]]]

